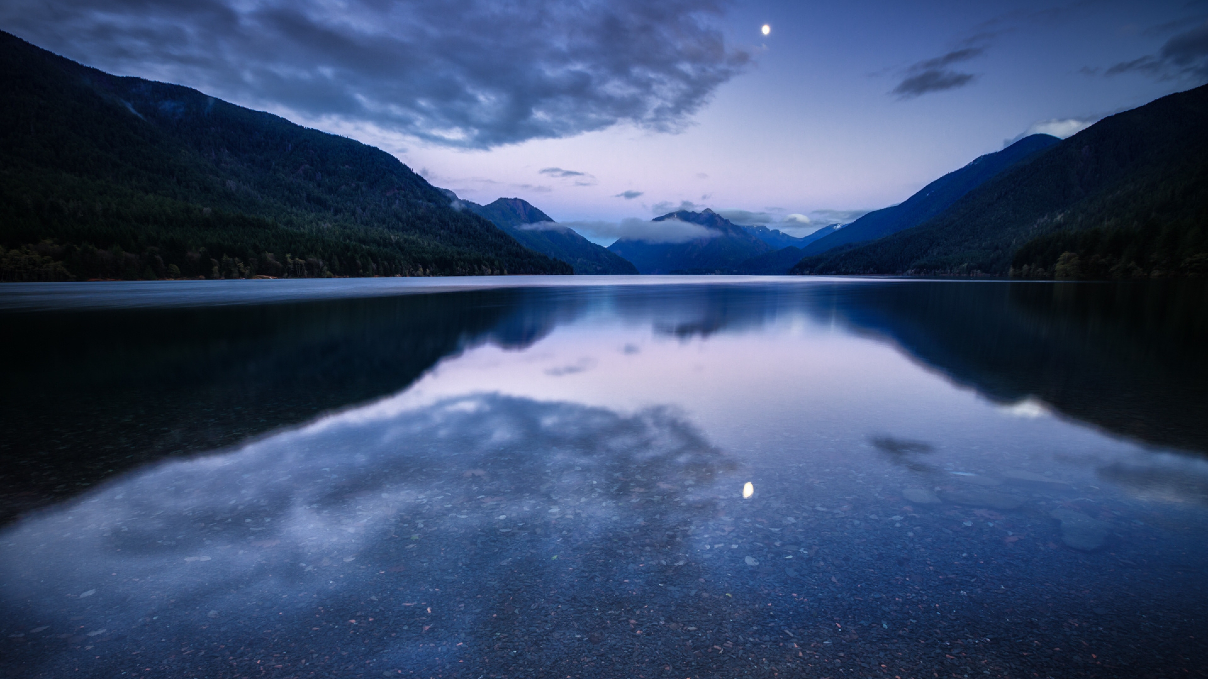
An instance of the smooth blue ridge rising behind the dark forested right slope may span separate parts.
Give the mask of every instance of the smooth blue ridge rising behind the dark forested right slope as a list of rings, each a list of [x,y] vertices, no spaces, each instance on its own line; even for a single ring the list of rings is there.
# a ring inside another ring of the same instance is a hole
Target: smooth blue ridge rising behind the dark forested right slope
[[[923,224],[942,213],[962,196],[1015,163],[1061,141],[1049,134],[1033,134],[1001,151],[980,156],[968,166],[936,179],[896,205],[873,210],[847,228],[820,238],[805,248],[803,256],[820,255],[840,245],[876,240]]]

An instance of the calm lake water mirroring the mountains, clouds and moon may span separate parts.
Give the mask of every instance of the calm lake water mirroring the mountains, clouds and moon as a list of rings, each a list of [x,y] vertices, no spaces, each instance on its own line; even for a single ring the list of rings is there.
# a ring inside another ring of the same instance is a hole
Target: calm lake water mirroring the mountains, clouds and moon
[[[1202,283],[8,284],[0,333],[5,677],[1208,672]]]

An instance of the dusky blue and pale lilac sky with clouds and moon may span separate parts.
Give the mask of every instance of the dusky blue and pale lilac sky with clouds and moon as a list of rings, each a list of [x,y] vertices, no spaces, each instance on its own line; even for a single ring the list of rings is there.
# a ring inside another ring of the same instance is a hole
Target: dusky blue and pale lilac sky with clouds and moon
[[[1208,82],[1208,0],[6,0],[0,28],[605,244],[680,208],[803,236]]]

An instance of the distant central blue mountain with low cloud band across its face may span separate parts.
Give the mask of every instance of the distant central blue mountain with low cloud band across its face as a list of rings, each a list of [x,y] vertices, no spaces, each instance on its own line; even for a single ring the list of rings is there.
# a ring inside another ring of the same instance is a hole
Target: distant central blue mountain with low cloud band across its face
[[[641,273],[731,273],[743,261],[772,250],[747,228],[710,209],[702,213],[679,210],[652,221],[672,219],[704,226],[710,236],[687,243],[622,239],[608,249],[633,262]]]

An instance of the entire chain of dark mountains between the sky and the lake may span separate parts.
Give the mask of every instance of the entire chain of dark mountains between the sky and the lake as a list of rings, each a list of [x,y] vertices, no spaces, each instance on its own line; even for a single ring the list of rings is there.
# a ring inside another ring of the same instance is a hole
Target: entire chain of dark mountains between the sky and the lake
[[[0,280],[1208,273],[1208,86],[1026,137],[803,237],[678,210],[651,232],[691,237],[604,246],[521,198],[460,199],[384,151],[196,89],[7,33],[0,63]]]

